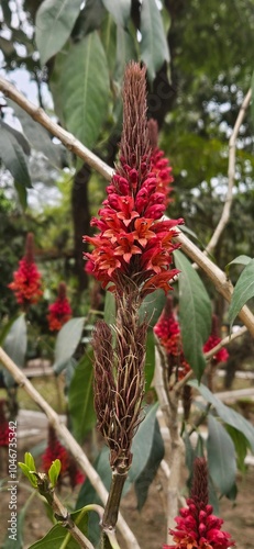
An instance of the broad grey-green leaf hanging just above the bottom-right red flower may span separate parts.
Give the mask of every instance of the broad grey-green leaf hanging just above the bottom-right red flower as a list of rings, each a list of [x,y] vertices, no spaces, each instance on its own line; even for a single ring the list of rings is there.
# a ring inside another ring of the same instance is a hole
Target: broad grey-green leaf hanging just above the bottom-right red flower
[[[234,445],[223,425],[211,414],[208,415],[207,451],[209,473],[220,493],[225,495],[235,483]]]

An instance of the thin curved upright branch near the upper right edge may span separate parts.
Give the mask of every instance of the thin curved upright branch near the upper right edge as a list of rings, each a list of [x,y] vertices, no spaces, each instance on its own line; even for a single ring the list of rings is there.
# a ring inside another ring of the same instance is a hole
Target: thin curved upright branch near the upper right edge
[[[236,122],[234,124],[233,133],[229,141],[229,169],[228,169],[228,191],[224,201],[224,208],[222,210],[221,219],[216,227],[216,231],[208,243],[205,254],[210,254],[218,244],[218,240],[230,219],[230,210],[233,201],[233,186],[234,186],[234,172],[235,172],[235,148],[236,148],[236,138],[239,135],[239,130],[243,122],[246,109],[250,104],[252,97],[252,90],[250,89],[246,93],[242,107],[240,109]]]

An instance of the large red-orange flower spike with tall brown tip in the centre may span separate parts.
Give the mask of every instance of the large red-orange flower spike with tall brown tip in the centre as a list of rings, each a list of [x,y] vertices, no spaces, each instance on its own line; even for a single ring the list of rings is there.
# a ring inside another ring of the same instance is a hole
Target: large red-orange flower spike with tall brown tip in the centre
[[[140,107],[145,104],[144,82],[145,69],[130,64],[123,92],[120,161],[107,188],[100,217],[91,221],[100,233],[84,237],[84,242],[95,247],[85,256],[102,287],[110,284],[108,290],[119,292],[132,280],[141,289],[142,298],[156,288],[166,293],[170,289],[169,281],[178,272],[170,269],[172,253],[178,247],[174,237],[176,226],[183,223],[181,219],[162,220],[167,202],[165,188],[172,179],[159,152],[152,160],[146,112]],[[136,123],[139,111],[141,117]]]

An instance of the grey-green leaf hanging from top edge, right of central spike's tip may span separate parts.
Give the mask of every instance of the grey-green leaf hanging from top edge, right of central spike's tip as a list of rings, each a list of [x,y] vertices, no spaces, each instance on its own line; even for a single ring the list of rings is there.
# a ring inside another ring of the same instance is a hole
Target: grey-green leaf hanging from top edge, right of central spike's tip
[[[169,52],[161,11],[156,0],[146,0],[141,4],[141,58],[147,67],[151,81],[164,61],[169,61]]]

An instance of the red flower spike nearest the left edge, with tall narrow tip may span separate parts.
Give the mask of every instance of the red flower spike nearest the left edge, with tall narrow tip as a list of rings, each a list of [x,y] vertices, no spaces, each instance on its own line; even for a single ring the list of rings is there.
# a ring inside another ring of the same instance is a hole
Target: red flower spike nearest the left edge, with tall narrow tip
[[[14,292],[16,301],[24,309],[37,303],[43,294],[41,273],[34,262],[34,237],[29,233],[25,242],[25,255],[20,260],[19,269],[13,273],[13,282],[9,288]]]

